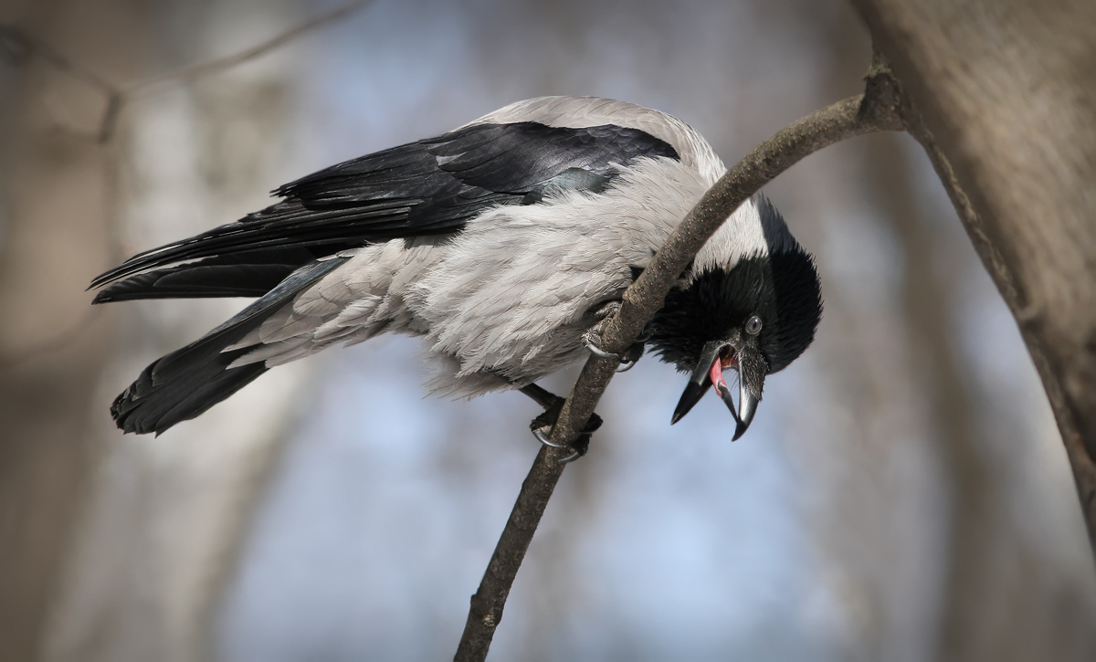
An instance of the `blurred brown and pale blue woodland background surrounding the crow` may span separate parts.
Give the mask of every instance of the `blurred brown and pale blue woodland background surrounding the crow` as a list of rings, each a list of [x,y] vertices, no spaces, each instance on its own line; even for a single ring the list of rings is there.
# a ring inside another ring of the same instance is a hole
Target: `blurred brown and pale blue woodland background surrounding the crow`
[[[537,452],[521,395],[423,399],[404,338],[123,437],[114,396],[246,301],[90,308],[94,275],[530,96],[666,111],[732,163],[870,55],[844,0],[375,0],[157,82],[339,7],[0,0],[37,39],[0,50],[0,659],[449,659]],[[1061,442],[925,156],[859,138],[766,192],[818,258],[814,346],[733,444],[710,398],[669,425],[669,366],[617,377],[491,659],[1096,659]]]

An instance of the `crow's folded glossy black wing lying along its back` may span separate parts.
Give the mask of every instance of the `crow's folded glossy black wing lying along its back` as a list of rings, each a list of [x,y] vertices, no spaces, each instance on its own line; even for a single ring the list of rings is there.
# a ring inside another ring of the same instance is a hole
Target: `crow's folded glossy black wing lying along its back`
[[[638,157],[678,158],[665,141],[616,125],[468,126],[321,170],[277,189],[285,199],[261,212],[135,255],[92,282],[113,283],[95,303],[260,296],[341,250],[459,231],[489,207],[535,204],[551,189],[600,191],[613,163]]]

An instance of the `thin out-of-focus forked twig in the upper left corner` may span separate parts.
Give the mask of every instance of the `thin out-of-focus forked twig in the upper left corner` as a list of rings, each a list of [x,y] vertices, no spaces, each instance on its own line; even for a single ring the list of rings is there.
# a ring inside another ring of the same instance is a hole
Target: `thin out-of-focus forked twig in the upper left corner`
[[[37,57],[42,61],[52,66],[54,69],[81,80],[99,90],[105,99],[105,104],[103,114],[100,116],[99,122],[95,125],[95,130],[90,136],[87,132],[81,132],[76,127],[67,126],[65,123],[57,122],[57,124],[67,129],[69,133],[91,138],[100,144],[105,144],[114,137],[115,129],[117,128],[118,116],[122,114],[123,107],[133,101],[135,96],[145,93],[150,88],[169,82],[190,82],[221,73],[244,62],[272,53],[277,48],[295,41],[297,37],[300,37],[329,23],[333,23],[334,21],[362,9],[372,1],[373,0],[354,0],[353,2],[344,4],[343,7],[334,9],[326,14],[321,14],[315,19],[290,27],[289,30],[261,44],[252,46],[251,48],[241,50],[240,53],[228,55],[208,62],[198,62],[196,65],[182,67],[180,69],[175,69],[174,71],[168,71],[165,73],[153,76],[147,80],[138,81],[125,87],[116,85],[91,69],[72,61],[60,50],[54,48],[46,42],[36,38],[34,35],[31,35],[16,25],[0,23],[0,49],[2,49],[7,59],[13,64],[20,65],[33,57]]]

